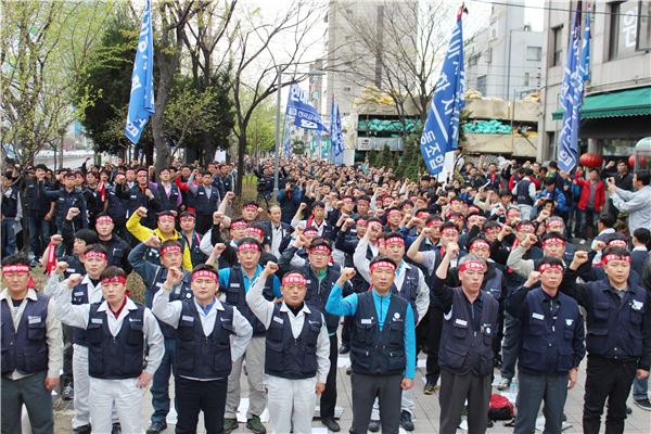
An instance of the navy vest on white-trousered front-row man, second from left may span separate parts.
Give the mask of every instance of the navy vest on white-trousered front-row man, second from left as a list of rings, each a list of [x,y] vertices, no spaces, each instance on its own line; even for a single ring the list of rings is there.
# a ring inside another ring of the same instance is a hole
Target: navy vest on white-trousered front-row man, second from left
[[[108,329],[110,310],[98,311],[101,303],[90,305],[88,320],[88,373],[94,379],[135,379],[142,373],[144,355],[144,306],[136,304],[116,336]],[[125,307],[126,308],[126,307]]]

